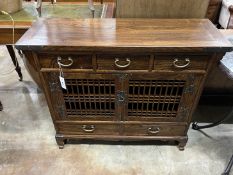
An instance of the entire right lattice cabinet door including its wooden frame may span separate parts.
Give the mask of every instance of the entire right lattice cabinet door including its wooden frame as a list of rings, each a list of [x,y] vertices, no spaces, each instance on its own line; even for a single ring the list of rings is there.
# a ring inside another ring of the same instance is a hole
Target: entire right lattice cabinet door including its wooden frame
[[[202,79],[194,74],[131,74],[124,120],[188,121]]]

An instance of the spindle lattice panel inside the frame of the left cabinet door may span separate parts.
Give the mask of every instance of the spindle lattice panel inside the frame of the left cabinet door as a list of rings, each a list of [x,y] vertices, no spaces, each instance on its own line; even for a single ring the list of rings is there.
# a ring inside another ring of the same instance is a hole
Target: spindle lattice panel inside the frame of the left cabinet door
[[[112,117],[115,115],[115,83],[110,79],[66,79],[63,89],[69,117]]]

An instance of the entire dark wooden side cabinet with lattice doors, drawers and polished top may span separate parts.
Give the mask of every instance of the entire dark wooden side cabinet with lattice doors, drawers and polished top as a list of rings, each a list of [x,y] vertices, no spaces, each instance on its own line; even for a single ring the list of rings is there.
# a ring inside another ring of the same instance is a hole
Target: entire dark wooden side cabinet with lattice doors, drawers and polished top
[[[40,72],[60,148],[174,140],[183,150],[205,78],[230,47],[206,19],[39,20],[17,43]]]

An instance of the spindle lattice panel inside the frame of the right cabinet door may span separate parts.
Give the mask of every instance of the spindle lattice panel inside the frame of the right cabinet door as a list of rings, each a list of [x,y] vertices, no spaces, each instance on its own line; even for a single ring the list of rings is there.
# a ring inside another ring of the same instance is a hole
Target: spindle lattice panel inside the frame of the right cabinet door
[[[176,117],[184,80],[129,80],[128,117]]]

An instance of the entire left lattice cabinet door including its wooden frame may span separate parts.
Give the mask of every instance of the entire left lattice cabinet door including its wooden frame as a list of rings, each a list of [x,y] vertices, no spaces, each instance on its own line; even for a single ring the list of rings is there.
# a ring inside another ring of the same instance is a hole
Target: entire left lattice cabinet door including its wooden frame
[[[65,73],[67,89],[61,88],[59,73],[43,73],[48,84],[51,114],[56,120],[116,121],[117,80],[111,74]]]

